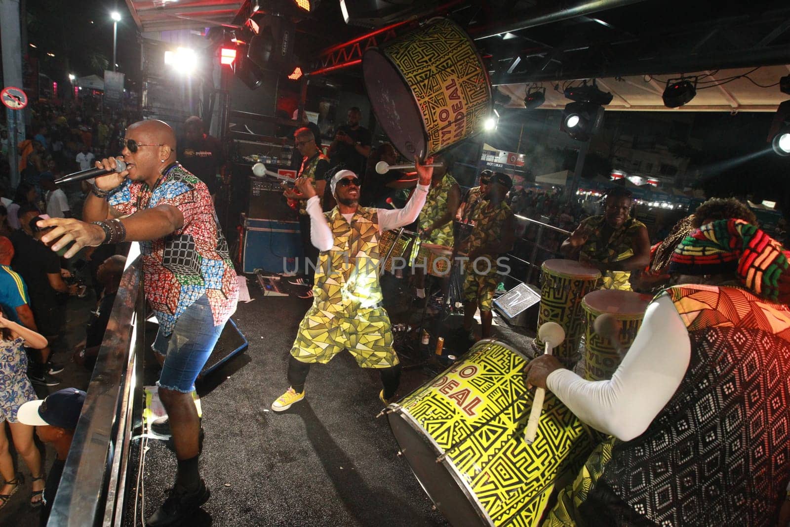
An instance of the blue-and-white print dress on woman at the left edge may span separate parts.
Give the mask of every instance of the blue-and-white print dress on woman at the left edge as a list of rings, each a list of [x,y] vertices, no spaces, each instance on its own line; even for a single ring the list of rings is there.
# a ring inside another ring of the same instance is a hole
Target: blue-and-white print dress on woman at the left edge
[[[21,337],[0,341],[0,423],[16,423],[19,407],[38,399],[28,379],[28,354],[23,344]]]

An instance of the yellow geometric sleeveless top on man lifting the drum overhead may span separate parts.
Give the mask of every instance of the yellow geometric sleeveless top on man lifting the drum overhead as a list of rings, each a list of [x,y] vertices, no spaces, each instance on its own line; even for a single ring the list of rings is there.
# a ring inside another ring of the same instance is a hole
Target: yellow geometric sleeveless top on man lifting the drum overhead
[[[335,207],[324,214],[333,245],[318,256],[314,307],[329,313],[353,312],[382,302],[378,284],[378,213],[359,207],[351,224]]]

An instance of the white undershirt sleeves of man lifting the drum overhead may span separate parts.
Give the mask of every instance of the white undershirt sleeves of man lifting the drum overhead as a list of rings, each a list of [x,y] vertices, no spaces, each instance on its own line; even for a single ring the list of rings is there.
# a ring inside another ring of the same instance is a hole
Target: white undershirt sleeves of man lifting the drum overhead
[[[403,227],[412,223],[419,216],[419,211],[425,205],[425,198],[428,195],[428,185],[417,185],[412,197],[403,209],[376,209],[378,213],[378,232],[389,231],[393,228]],[[321,203],[318,196],[313,196],[307,200],[305,210],[310,215],[310,241],[318,250],[329,250],[334,245],[332,228],[326,221],[326,216],[321,210]],[[346,216],[344,214],[344,216]],[[352,215],[351,215],[352,216]],[[346,218],[348,220],[351,216]]]

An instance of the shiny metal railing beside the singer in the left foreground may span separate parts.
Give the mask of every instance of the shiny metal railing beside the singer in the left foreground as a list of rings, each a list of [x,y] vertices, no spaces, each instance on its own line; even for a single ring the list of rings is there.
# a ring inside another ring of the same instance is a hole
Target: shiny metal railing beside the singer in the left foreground
[[[50,527],[122,525],[144,337],[142,258],[138,244],[132,243],[55,495]]]

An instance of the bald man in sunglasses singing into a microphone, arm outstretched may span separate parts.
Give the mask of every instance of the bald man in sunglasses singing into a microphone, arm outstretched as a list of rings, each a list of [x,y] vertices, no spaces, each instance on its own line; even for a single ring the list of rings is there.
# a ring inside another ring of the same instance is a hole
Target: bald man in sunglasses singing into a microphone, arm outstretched
[[[175,485],[147,525],[174,525],[209,499],[198,470],[201,427],[191,392],[235,311],[239,284],[209,189],[176,160],[171,127],[135,122],[123,145],[122,160],[96,162],[85,221],[58,218],[39,226],[54,227],[43,237],[54,242],[52,250],[73,242],[66,258],[82,247],[144,242],[145,298],[159,321],[153,349],[162,363],[159,394],[168,416],[159,424],[170,429],[178,459]],[[85,172],[63,179],[92,177]]]

